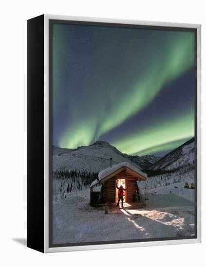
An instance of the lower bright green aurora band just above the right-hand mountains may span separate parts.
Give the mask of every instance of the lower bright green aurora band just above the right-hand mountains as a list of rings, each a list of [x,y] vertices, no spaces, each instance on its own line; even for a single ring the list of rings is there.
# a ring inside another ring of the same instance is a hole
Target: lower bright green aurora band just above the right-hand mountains
[[[121,152],[145,155],[172,150],[194,136],[194,110],[169,118],[113,143]]]

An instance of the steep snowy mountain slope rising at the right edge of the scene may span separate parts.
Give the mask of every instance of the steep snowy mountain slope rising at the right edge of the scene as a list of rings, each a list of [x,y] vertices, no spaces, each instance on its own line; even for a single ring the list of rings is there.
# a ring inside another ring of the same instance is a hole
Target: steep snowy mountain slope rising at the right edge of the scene
[[[172,170],[182,167],[194,166],[195,140],[192,137],[180,147],[172,150],[152,165],[153,170]]]

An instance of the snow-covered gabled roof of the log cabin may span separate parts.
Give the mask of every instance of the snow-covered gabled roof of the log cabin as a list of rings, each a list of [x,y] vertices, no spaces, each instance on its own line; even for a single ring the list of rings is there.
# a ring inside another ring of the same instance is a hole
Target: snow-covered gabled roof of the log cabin
[[[119,164],[113,165],[112,167],[108,167],[106,169],[101,170],[98,174],[98,180],[103,183],[104,181],[109,179],[112,174],[115,175],[116,173],[118,173],[118,171],[121,171],[124,168],[126,170],[131,170],[134,174],[137,174],[141,180],[146,180],[148,178],[148,175],[146,173],[132,166],[130,163],[121,162]]]

